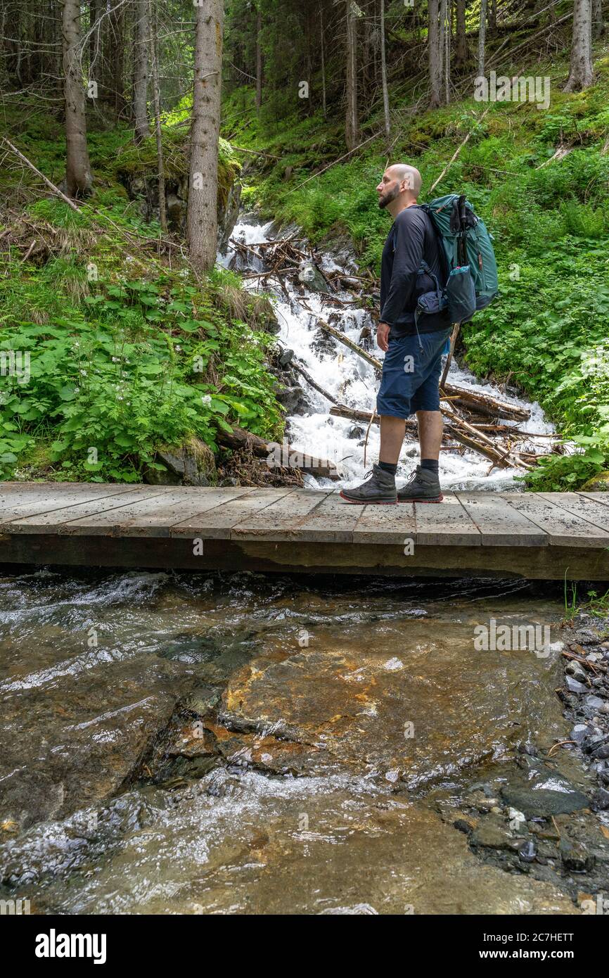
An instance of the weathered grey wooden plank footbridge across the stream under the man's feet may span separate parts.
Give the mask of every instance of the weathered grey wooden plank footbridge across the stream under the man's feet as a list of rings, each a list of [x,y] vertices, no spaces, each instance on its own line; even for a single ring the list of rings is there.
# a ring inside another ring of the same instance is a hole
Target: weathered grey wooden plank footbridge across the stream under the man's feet
[[[361,507],[335,489],[4,482],[0,562],[609,581],[609,493]]]

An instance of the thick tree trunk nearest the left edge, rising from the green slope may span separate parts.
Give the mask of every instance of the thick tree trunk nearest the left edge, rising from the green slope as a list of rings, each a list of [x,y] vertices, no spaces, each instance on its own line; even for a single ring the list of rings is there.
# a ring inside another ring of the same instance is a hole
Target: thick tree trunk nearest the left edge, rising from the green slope
[[[80,74],[80,3],[64,0],[65,187],[68,197],[83,197],[91,190],[91,163],[87,150],[85,92]]]

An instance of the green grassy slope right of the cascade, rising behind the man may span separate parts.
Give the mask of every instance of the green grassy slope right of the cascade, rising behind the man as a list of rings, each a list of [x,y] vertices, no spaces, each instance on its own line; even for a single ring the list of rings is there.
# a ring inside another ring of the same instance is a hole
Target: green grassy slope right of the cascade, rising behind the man
[[[465,328],[466,360],[479,376],[518,382],[586,448],[585,456],[548,459],[531,480],[536,488],[573,488],[609,467],[609,58],[595,67],[596,83],[578,95],[561,91],[564,63],[531,68],[551,78],[548,111],[496,104],[480,123],[486,107],[473,99],[415,115],[409,93],[402,107],[393,104],[403,124],[391,157],[419,168],[423,200],[472,131],[433,195],[466,193],[495,236],[500,299]],[[227,134],[238,119],[242,125],[250,100],[245,90],[228,100]],[[265,126],[264,115],[251,115],[236,142],[280,160],[250,174],[246,198],[296,221],[315,241],[348,235],[360,261],[378,271],[388,229],[374,193],[386,158],[380,141],[299,186],[311,167],[344,153],[340,127],[319,116]],[[362,138],[378,129],[378,117],[370,118]],[[561,143],[571,152],[548,162]],[[590,372],[588,351],[605,343],[607,367]]]

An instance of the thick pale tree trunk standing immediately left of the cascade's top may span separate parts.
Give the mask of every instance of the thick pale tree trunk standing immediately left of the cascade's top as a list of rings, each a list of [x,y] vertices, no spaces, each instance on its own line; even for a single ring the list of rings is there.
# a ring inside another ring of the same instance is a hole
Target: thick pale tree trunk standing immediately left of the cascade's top
[[[196,7],[188,240],[197,273],[213,268],[218,237],[218,138],[224,0]]]

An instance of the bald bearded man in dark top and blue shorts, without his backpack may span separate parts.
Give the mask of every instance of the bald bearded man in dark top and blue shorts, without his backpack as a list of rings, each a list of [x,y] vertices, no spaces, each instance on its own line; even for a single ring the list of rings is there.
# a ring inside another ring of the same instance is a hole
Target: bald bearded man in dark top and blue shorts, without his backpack
[[[380,454],[366,482],[342,490],[340,495],[347,503],[442,502],[438,476],[442,441],[439,380],[451,324],[446,310],[414,318],[418,296],[435,291],[437,283],[442,287],[445,280],[442,244],[431,218],[416,203],[420,187],[417,169],[395,163],[385,170],[376,188],[378,206],[386,207],[393,217],[382,253],[376,330],[376,342],[385,352],[376,398]],[[398,492],[395,474],[405,419],[413,414],[418,424],[420,465]]]

